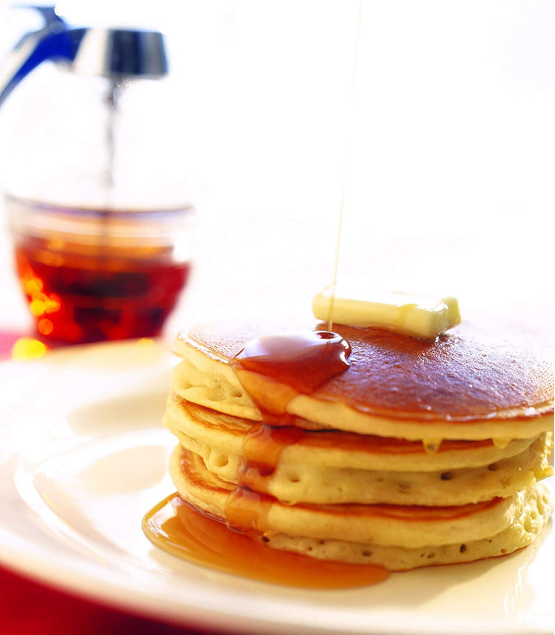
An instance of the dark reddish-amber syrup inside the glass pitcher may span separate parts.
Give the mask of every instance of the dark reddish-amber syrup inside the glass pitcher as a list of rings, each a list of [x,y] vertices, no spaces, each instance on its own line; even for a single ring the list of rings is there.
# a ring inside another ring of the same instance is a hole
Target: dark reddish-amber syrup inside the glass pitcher
[[[17,276],[39,337],[83,344],[157,337],[187,283],[189,263],[15,248]]]

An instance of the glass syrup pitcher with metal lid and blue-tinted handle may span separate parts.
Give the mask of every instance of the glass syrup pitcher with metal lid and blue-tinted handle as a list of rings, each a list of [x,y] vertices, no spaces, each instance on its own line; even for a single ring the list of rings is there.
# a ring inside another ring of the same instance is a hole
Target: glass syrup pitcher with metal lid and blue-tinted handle
[[[164,36],[34,9],[43,28],[0,68],[0,178],[36,336],[157,337],[189,276],[194,216]]]

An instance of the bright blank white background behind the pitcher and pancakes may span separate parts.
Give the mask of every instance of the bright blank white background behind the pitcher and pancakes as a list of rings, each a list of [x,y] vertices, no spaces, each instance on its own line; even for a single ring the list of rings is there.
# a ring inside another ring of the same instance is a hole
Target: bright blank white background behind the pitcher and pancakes
[[[169,37],[187,138],[174,160],[198,210],[170,329],[309,310],[332,280],[345,173],[340,277],[551,324],[552,1],[364,0],[354,91],[355,0],[60,8]],[[24,19],[3,14],[6,51]]]

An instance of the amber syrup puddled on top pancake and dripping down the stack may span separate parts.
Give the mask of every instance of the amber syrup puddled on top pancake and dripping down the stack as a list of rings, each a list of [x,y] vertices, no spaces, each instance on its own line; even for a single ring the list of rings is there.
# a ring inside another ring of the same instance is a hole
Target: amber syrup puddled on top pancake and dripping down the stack
[[[265,531],[270,503],[264,493],[250,489],[251,473],[271,476],[284,448],[302,439],[304,431],[291,425],[294,418],[287,404],[348,369],[349,353],[350,345],[341,335],[312,331],[257,337],[232,359],[235,374],[263,416],[262,423],[246,434],[239,485],[225,505],[232,529]]]

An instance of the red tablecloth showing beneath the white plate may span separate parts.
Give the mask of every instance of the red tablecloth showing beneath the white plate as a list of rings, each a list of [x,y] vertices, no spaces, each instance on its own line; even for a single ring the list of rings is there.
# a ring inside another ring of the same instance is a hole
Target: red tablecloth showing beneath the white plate
[[[0,331],[0,359],[10,356],[22,333]],[[56,591],[0,565],[0,634],[186,635],[207,633],[132,616]]]

